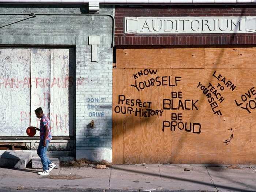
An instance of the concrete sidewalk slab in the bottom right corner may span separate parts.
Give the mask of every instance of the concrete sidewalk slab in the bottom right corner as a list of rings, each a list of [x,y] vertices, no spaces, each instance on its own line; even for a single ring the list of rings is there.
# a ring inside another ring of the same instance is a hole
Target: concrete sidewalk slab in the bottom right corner
[[[256,191],[256,173],[253,169],[207,167],[219,191]]]

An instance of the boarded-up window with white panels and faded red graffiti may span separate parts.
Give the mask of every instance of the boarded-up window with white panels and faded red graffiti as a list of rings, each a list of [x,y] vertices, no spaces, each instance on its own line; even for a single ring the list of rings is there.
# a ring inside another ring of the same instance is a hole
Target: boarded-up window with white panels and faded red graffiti
[[[74,135],[73,49],[0,49],[0,71],[1,136],[26,136],[27,127],[39,127],[38,107],[53,136]]]

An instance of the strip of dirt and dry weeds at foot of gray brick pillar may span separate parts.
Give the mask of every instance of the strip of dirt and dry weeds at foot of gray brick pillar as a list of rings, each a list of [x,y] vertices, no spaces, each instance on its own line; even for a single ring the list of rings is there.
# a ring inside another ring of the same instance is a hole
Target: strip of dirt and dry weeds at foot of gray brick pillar
[[[107,167],[111,166],[111,163],[105,160],[98,162],[88,161],[87,159],[80,159],[77,161],[70,162],[60,162],[61,167],[96,167],[97,165],[106,165]]]

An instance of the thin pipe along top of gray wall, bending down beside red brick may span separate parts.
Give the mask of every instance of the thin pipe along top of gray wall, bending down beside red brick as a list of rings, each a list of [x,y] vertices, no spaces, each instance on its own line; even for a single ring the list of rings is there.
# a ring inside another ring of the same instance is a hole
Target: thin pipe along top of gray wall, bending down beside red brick
[[[22,20],[13,22],[13,23],[9,23],[7,25],[1,26],[0,28],[8,26],[8,25],[12,25],[14,23],[18,23],[18,22],[26,20],[26,19],[30,19],[30,18],[36,17],[37,15],[57,15],[57,16],[90,16],[90,15],[97,16],[98,15],[98,16],[109,16],[112,19],[112,47],[115,46],[115,40],[114,40],[115,19],[114,19],[114,16],[110,15],[110,14],[54,14],[54,13],[37,13],[37,14],[35,14],[35,13],[27,13],[27,14],[25,14],[25,13],[0,13],[0,15],[29,15],[30,16],[29,18],[25,18],[25,19],[22,19]]]

